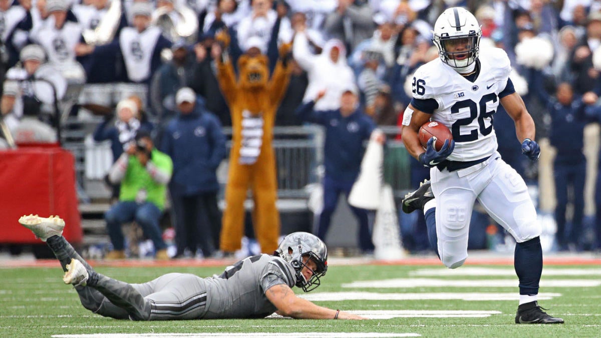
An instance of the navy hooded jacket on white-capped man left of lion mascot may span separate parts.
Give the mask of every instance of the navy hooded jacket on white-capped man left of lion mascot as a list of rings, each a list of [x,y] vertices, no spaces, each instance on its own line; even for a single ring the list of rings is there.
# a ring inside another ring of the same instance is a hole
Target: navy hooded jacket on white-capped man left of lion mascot
[[[202,100],[197,100],[190,114],[180,113],[169,121],[160,150],[173,161],[171,194],[193,195],[219,190],[216,170],[225,158],[225,135],[219,119],[204,108]]]

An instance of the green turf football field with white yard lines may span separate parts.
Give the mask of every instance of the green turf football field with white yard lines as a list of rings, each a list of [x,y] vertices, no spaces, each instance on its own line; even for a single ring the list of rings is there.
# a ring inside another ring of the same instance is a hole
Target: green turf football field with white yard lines
[[[207,276],[223,267],[98,266],[141,283],[166,272]],[[50,265],[52,266],[52,264]],[[133,322],[85,310],[58,267],[0,268],[0,337],[600,337],[601,267],[546,265],[540,304],[566,324],[513,324],[517,278],[511,265],[343,265],[303,297],[352,310],[367,321],[288,318]],[[297,290],[297,293],[302,293]]]

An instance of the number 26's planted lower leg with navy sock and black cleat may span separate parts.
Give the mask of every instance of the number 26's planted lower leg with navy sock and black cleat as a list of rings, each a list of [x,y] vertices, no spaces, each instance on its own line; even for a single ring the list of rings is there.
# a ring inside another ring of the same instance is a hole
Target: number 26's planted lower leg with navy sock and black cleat
[[[540,238],[517,243],[514,267],[520,284],[520,305],[517,307],[516,324],[561,324],[561,318],[549,316],[538,306],[538,283],[543,272],[543,249]]]

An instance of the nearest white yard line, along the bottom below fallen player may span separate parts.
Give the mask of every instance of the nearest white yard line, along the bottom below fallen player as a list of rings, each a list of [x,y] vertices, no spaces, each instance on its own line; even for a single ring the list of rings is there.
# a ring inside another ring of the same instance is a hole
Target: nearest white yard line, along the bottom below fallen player
[[[291,333],[204,333],[203,337],[284,337],[284,338],[379,338],[379,337],[420,337],[417,333],[377,333],[377,332],[291,332]],[[198,333],[94,333],[94,334],[55,334],[55,338],[139,338],[139,337],[198,337]]]

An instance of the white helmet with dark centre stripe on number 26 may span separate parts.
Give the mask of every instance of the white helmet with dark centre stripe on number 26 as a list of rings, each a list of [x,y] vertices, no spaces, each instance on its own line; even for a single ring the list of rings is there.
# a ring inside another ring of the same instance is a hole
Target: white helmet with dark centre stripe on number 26
[[[474,14],[465,8],[451,7],[442,12],[434,24],[433,35],[438,56],[449,66],[465,69],[478,58],[482,29]]]

